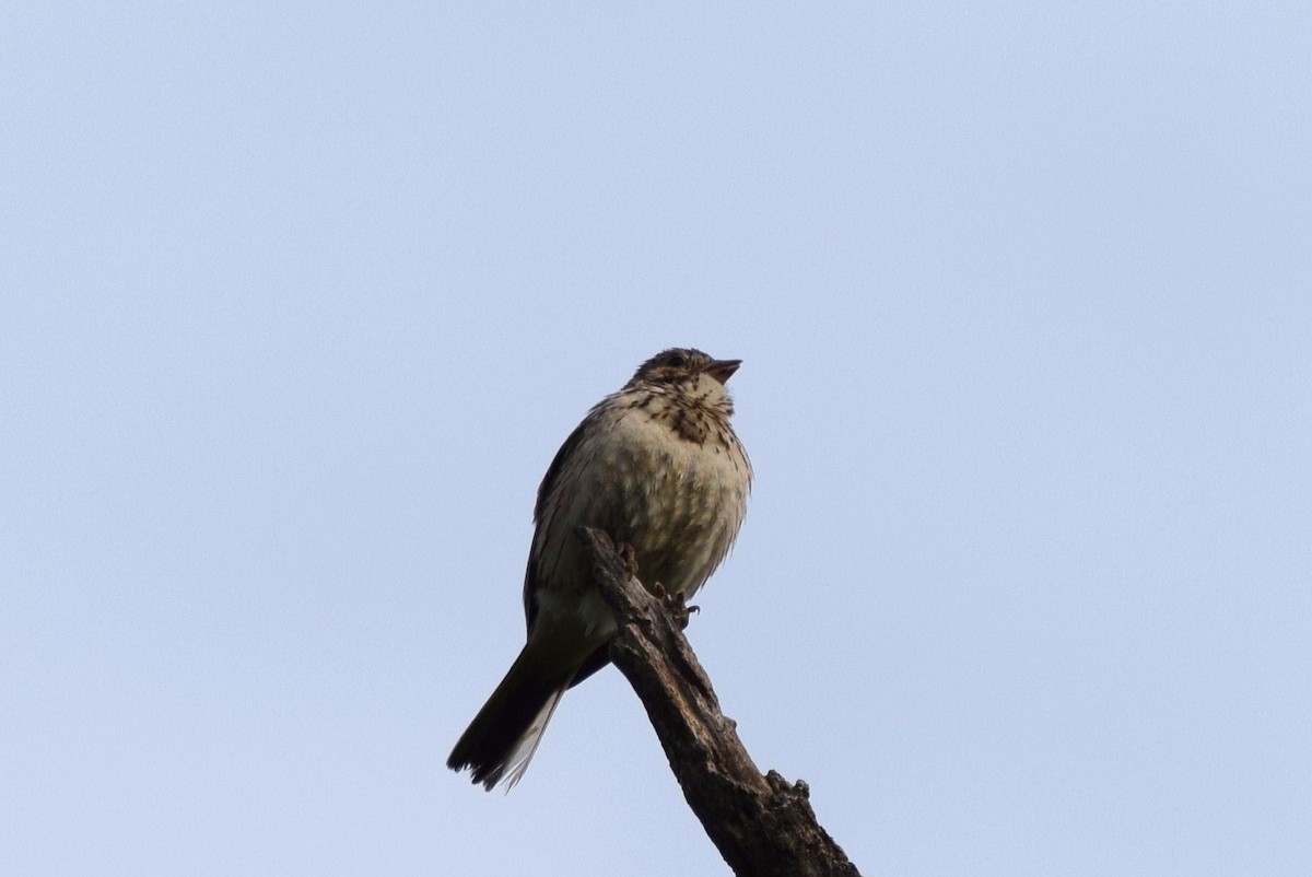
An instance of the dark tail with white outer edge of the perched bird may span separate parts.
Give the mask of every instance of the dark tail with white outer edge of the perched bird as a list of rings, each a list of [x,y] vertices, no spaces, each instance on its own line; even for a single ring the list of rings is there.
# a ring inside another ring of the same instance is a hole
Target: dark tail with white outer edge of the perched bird
[[[504,779],[509,789],[523,776],[577,670],[562,672],[533,646],[530,639],[446,759],[453,771],[470,768],[472,780],[489,792]]]

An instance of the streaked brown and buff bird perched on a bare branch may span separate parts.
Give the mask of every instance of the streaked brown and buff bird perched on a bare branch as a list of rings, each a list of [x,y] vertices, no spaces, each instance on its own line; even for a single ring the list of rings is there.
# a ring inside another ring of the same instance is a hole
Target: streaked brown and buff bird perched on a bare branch
[[[726,383],[741,360],[670,348],[598,402],[547,467],[523,578],[527,639],[446,765],[506,790],[523,776],[562,696],[607,663],[618,624],[592,584],[580,526],[605,532],[652,593],[687,600],[737,538],[752,463]]]

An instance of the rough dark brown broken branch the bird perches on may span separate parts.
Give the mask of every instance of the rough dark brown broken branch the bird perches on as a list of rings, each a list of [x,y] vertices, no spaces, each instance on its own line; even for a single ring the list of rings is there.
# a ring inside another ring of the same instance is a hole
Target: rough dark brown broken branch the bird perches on
[[[610,537],[580,528],[593,580],[619,620],[610,659],[643,701],[684,798],[735,874],[861,877],[816,822],[806,782],[761,776],[720,712],[681,625],[636,579]]]

